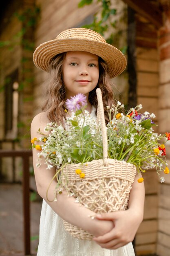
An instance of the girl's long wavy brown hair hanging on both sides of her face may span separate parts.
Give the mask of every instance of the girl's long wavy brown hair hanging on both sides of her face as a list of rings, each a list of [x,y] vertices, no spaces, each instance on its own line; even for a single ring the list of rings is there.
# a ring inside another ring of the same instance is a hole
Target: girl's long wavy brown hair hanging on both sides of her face
[[[62,79],[62,65],[66,52],[56,55],[52,58],[49,73],[51,79],[49,81],[49,88],[46,91],[46,101],[42,106],[42,110],[47,112],[47,117],[51,122],[57,122],[64,126],[64,119],[66,118],[66,112],[64,111],[64,104],[66,101],[66,87]],[[96,108],[97,112],[97,95],[96,89],[100,88],[102,91],[104,115],[106,124],[109,121],[108,111],[106,106],[112,107],[115,105],[115,99],[113,96],[113,86],[111,85],[110,78],[108,76],[107,64],[102,58],[99,57],[99,81],[95,89],[89,92],[88,100]]]

